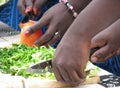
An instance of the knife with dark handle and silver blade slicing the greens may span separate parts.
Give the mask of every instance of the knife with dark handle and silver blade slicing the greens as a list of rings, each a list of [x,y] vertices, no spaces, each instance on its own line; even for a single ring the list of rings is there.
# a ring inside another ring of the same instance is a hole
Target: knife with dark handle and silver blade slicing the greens
[[[94,49],[91,49],[90,56],[99,49],[99,47],[96,47]],[[26,69],[27,72],[31,73],[45,73],[45,72],[52,72],[52,60],[42,61],[40,63],[37,63],[30,68]]]

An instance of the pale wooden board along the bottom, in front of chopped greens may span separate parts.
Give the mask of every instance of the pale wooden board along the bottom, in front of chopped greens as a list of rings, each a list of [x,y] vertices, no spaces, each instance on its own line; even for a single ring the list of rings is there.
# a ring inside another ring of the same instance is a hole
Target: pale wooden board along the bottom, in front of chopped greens
[[[99,76],[88,79],[79,85],[95,84],[100,80]],[[62,83],[56,80],[29,78],[25,79],[21,76],[11,76],[8,74],[0,74],[0,88],[65,88],[75,87],[76,84]]]

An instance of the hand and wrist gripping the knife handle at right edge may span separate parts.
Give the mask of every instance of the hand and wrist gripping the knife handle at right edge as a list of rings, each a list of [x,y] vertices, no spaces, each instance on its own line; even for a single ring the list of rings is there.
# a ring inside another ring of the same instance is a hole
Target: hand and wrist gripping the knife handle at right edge
[[[92,48],[100,47],[92,56],[92,62],[104,62],[113,55],[120,54],[120,20],[97,34],[92,39]]]

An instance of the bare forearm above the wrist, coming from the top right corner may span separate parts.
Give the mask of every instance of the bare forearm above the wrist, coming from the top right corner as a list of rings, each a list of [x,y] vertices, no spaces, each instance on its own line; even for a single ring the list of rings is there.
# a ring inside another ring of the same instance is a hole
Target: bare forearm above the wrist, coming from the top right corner
[[[119,0],[94,0],[70,26],[67,34],[91,39],[120,17]]]

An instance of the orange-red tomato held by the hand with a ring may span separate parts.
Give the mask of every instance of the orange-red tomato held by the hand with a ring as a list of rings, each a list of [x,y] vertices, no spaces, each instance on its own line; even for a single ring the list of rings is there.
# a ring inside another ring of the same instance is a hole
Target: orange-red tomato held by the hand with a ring
[[[20,33],[20,43],[26,44],[28,46],[34,46],[34,42],[38,40],[42,36],[42,30],[39,29],[32,35],[25,35],[26,29],[31,25],[35,24],[35,21],[29,21],[27,23],[21,23],[21,33]]]

